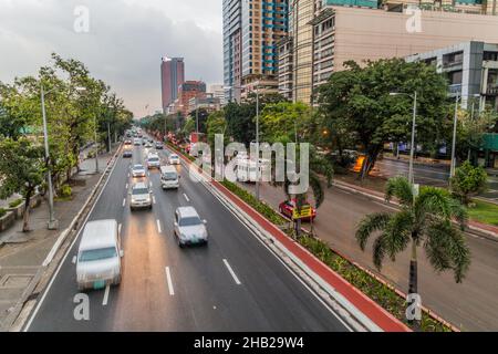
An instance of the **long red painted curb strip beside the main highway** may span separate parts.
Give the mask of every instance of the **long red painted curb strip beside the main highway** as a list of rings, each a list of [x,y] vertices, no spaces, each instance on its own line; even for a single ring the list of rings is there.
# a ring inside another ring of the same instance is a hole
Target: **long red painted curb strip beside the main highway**
[[[179,152],[179,150],[177,150]],[[179,152],[179,156],[187,163],[191,162]],[[268,221],[261,214],[259,214],[251,206],[246,204],[238,196],[232,194],[229,189],[222,186],[219,181],[214,179],[210,184],[226,195],[236,206],[248,214],[256,222],[262,226],[268,232],[270,232],[280,243],[282,243],[290,252],[298,257],[305,266],[308,266],[314,273],[328,282],[339,293],[341,293],[347,301],[350,301],[359,311],[365,314],[372,322],[378,325],[386,332],[412,332],[403,322],[394,317],[385,309],[366,296],[360,290],[354,288],[351,283],[344,280],[341,275],[330,269],[315,256],[309,252],[301,244],[289,238],[277,226]]]

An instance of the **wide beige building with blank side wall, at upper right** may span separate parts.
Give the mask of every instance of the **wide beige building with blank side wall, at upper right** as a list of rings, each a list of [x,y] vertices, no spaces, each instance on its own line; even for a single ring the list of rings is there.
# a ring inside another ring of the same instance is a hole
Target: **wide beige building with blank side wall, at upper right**
[[[338,0],[326,2],[333,1]],[[483,11],[423,10],[421,27],[413,30],[407,27],[413,19],[409,8],[403,8],[403,12],[387,11],[375,8],[374,3],[369,8],[369,0],[361,1],[363,8],[326,6],[310,22],[313,27],[313,72],[309,80],[313,88],[326,82],[334,71],[343,70],[349,60],[364,63],[366,60],[405,58],[477,39],[498,43],[498,17],[481,14]]]

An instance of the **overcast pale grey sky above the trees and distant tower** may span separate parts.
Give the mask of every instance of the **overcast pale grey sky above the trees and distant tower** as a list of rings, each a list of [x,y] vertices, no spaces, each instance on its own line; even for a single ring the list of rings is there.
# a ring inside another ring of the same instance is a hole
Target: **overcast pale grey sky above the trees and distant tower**
[[[74,30],[79,6],[89,32]],[[0,81],[37,74],[56,52],[143,116],[160,110],[163,55],[185,58],[187,80],[222,83],[221,32],[221,0],[0,0]]]

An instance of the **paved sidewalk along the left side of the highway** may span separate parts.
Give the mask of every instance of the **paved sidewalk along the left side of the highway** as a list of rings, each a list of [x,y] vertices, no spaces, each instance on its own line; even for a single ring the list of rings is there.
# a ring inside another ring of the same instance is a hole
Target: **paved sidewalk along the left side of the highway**
[[[95,174],[95,159],[82,163],[82,171],[73,177],[76,183],[72,186],[72,200],[54,202],[59,230],[46,229],[49,207],[44,200],[40,207],[31,210],[32,231],[21,232],[22,220],[18,220],[10,229],[0,232],[0,331],[7,330],[3,326],[9,323],[4,321],[42,268],[58,237],[85,204],[111,156],[104,154],[98,157],[98,174]]]

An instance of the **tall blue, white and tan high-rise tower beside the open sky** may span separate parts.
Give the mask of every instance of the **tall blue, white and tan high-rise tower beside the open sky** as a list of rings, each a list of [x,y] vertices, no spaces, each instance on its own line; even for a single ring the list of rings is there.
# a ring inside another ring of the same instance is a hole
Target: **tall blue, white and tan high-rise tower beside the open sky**
[[[224,0],[225,85],[238,100],[253,82],[278,84],[278,42],[287,37],[289,0]]]

